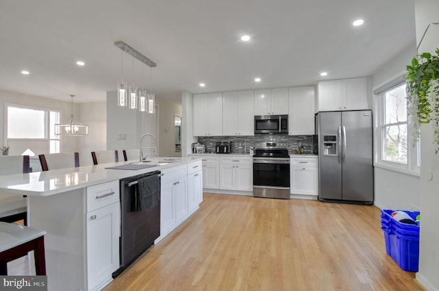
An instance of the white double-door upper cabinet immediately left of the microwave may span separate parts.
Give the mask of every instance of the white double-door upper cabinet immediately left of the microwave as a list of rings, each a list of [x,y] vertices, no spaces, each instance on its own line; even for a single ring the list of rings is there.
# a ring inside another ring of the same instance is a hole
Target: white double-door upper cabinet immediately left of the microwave
[[[254,91],[224,92],[222,128],[224,136],[252,136]]]

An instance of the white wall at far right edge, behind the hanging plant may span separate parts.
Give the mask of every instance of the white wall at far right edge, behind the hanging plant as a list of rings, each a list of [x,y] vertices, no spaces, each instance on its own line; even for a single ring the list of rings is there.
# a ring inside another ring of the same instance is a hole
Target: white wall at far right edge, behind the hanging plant
[[[416,41],[420,43],[429,23],[439,22],[438,0],[416,0]],[[434,53],[439,47],[439,27],[431,26],[418,52]],[[419,272],[416,279],[428,290],[439,290],[439,155],[434,151],[433,130],[423,125],[421,132],[421,170],[420,170],[420,254]]]

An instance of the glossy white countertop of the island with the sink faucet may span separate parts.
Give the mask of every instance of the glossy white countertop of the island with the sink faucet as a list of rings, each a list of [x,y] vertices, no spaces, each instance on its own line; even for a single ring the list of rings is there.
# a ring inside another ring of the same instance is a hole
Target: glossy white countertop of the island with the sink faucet
[[[81,166],[78,168],[64,168],[60,170],[48,170],[46,172],[36,172],[28,174],[3,175],[0,176],[0,194],[8,192],[28,196],[49,196],[66,192],[69,190],[80,189],[107,181],[119,180],[154,170],[162,170],[172,166],[187,164],[196,160],[193,157],[155,157],[149,164],[156,164],[157,161],[164,159],[178,159],[170,161],[169,164],[143,168],[140,170],[117,170],[106,169],[110,166],[130,164],[135,161],[99,164],[95,166]]]

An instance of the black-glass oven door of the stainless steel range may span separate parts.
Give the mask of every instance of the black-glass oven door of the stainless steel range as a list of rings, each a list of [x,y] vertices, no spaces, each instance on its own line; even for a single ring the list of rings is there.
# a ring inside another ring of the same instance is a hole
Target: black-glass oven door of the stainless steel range
[[[253,186],[289,189],[289,158],[253,157]]]

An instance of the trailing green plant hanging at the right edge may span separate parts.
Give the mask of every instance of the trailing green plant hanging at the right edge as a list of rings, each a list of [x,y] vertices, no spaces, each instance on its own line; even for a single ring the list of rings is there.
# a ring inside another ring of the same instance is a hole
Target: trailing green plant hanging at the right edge
[[[439,151],[439,48],[436,55],[421,53],[407,66],[407,110],[413,121],[414,144],[421,124],[431,123]]]

